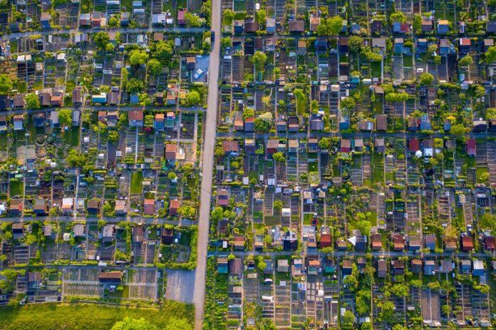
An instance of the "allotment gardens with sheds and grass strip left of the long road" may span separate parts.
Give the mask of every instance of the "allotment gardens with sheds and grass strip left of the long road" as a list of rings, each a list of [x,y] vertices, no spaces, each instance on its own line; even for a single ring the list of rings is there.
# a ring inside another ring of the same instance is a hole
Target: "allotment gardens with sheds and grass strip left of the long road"
[[[0,4],[1,329],[193,329],[210,15]]]

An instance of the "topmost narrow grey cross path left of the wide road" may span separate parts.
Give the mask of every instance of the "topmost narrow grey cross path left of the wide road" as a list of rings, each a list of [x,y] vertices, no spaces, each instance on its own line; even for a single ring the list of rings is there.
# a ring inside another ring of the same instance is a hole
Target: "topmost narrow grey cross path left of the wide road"
[[[48,34],[70,34],[70,33],[95,33],[98,31],[119,31],[120,33],[147,33],[153,31],[160,31],[165,33],[203,33],[205,32],[205,28],[163,28],[163,27],[153,27],[150,28],[114,28],[114,29],[101,29],[101,28],[88,28],[88,29],[61,29],[61,30],[47,30],[47,31],[29,31],[29,32],[18,32],[18,33],[10,33],[8,35],[2,36],[3,40],[5,39],[17,39],[17,38],[26,38],[29,36],[41,36]]]

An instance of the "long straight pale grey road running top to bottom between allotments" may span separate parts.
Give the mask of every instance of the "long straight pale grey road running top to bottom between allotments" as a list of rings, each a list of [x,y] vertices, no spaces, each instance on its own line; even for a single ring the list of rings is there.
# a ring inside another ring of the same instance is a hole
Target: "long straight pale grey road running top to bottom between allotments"
[[[210,228],[210,199],[212,196],[212,173],[214,165],[215,132],[217,129],[217,98],[219,88],[220,56],[220,0],[212,0],[212,31],[215,42],[210,53],[208,71],[208,105],[205,119],[205,138],[203,139],[202,190],[200,193],[200,220],[198,223],[198,254],[195,273],[195,330],[202,330],[205,311],[205,272],[207,270],[208,232]]]

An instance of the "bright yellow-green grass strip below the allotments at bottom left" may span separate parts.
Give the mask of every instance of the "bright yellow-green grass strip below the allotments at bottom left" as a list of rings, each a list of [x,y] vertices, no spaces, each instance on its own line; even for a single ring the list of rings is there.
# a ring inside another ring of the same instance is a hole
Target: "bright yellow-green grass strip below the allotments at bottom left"
[[[163,329],[171,317],[187,319],[193,329],[195,309],[192,305],[165,301],[162,309],[113,307],[98,304],[32,304],[0,308],[2,330],[109,330],[125,316],[144,318]]]

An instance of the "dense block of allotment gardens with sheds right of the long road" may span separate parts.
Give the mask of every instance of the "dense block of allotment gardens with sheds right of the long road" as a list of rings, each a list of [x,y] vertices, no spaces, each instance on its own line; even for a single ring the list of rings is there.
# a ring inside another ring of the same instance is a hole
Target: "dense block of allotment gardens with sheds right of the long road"
[[[204,329],[492,329],[492,1],[222,1]]]

